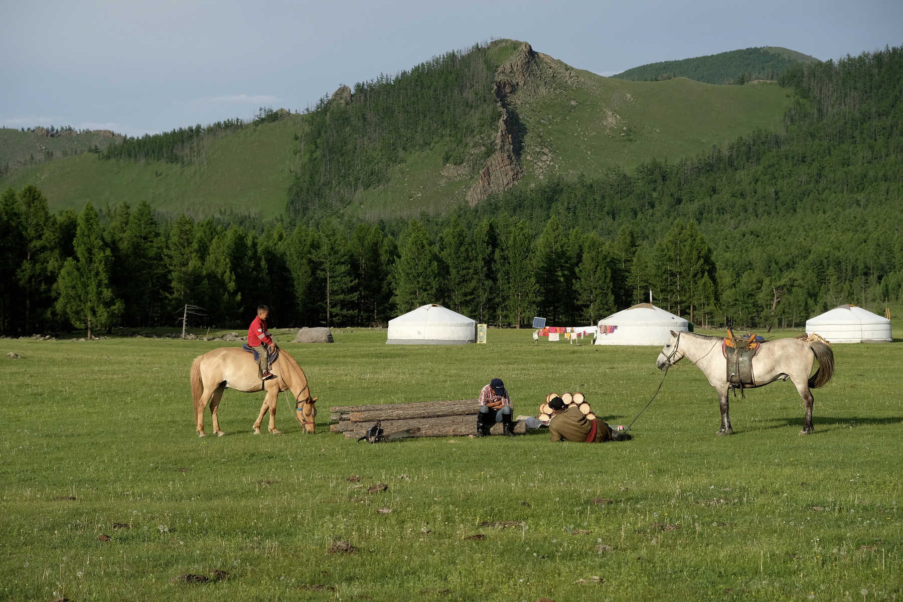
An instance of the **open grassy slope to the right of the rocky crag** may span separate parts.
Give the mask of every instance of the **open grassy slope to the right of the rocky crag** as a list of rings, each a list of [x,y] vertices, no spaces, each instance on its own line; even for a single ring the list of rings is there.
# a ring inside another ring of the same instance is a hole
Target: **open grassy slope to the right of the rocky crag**
[[[634,82],[581,73],[581,85],[525,104],[527,178],[632,169],[777,130],[789,103],[775,84],[723,87],[690,79]]]

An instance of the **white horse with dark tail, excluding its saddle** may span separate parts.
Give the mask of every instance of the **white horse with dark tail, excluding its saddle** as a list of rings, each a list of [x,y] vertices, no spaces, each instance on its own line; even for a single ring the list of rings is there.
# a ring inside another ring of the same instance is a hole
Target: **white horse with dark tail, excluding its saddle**
[[[721,337],[699,335],[694,332],[671,331],[671,338],[658,354],[656,366],[664,370],[666,366],[674,366],[683,357],[689,359],[694,366],[703,371],[709,384],[718,392],[721,404],[721,429],[717,435],[731,435],[731,415],[728,405],[727,360],[721,353]],[[834,374],[834,353],[831,347],[821,341],[808,342],[800,338],[778,338],[760,344],[759,352],[752,358],[753,383],[749,388],[765,386],[776,380],[786,381],[789,378],[796,385],[796,391],[805,403],[805,421],[801,435],[815,431],[812,426],[812,405],[815,398],[809,391],[817,389],[831,380]],[[815,360],[818,370],[812,372]]]

